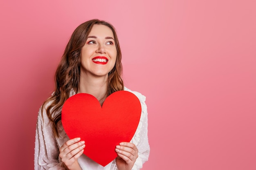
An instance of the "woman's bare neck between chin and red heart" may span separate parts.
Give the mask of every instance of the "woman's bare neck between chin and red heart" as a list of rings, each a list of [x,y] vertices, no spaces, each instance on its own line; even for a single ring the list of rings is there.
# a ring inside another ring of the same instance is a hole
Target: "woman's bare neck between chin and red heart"
[[[80,75],[78,92],[88,93],[98,99],[101,106],[107,97],[108,75],[94,77],[92,75]]]

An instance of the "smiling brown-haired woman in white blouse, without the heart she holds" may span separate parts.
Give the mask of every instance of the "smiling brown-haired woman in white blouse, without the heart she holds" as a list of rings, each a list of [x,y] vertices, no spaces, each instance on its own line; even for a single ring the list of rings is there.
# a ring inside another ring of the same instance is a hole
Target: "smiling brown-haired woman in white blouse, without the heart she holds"
[[[121,50],[114,27],[89,20],[78,26],[68,42],[55,75],[55,91],[39,110],[35,170],[139,170],[148,160],[145,97],[124,87]],[[85,141],[69,139],[61,124],[61,108],[76,93],[88,93],[102,105],[115,91],[134,93],[141,102],[141,118],[132,140],[116,147],[117,158],[103,167],[83,154]]]

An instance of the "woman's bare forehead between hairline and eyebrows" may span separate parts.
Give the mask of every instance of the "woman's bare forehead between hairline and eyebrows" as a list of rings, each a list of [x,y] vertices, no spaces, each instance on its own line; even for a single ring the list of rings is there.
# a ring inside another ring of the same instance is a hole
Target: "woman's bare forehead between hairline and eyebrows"
[[[97,38],[114,38],[112,30],[108,26],[100,24],[94,24],[88,36],[96,36]]]

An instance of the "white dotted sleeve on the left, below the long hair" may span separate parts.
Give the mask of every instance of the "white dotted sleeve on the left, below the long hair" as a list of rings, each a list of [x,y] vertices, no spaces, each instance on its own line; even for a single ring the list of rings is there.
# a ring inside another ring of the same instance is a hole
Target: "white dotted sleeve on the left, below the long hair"
[[[36,125],[36,140],[34,154],[35,170],[65,170],[58,160],[59,149],[52,131],[52,123],[45,109],[40,108]]]

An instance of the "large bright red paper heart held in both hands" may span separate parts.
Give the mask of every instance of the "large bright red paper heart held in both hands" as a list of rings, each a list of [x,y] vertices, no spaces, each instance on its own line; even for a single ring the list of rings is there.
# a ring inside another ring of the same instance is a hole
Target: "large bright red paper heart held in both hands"
[[[130,142],[141,115],[139,99],[128,91],[109,95],[102,107],[92,95],[79,93],[63,104],[61,121],[70,139],[85,141],[84,154],[106,166],[117,157],[120,142]]]

